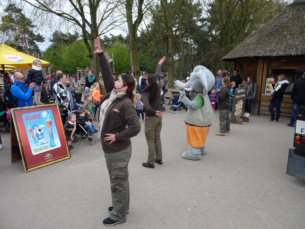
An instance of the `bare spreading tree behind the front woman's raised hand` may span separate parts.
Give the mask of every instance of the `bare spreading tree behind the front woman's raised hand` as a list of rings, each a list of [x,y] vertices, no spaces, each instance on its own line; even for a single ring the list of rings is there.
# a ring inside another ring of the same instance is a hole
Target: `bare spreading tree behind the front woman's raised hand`
[[[122,4],[116,0],[24,0],[36,9],[51,13],[81,30],[91,58],[91,68],[99,72],[99,60],[93,55],[94,39],[124,23],[124,16],[116,14]],[[57,22],[58,24],[58,22]]]

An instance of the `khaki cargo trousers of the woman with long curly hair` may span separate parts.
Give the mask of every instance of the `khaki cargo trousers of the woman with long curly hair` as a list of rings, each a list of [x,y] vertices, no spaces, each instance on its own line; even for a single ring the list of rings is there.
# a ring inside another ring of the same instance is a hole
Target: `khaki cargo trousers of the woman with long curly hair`
[[[162,147],[160,138],[161,128],[162,117],[145,117],[144,133],[148,146],[147,163],[149,164],[155,164],[155,158],[157,160],[162,159]]]

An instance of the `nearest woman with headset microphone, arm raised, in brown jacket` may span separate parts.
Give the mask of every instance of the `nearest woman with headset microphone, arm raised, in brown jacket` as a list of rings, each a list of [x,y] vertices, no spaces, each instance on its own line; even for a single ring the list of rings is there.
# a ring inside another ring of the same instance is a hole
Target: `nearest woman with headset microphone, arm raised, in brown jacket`
[[[117,81],[114,81],[99,37],[94,40],[94,46],[96,50],[94,53],[99,56],[99,66],[107,93],[99,107],[99,138],[106,157],[113,204],[108,208],[110,217],[103,220],[103,224],[112,226],[124,223],[126,213],[129,212],[130,138],[140,132],[141,125],[133,104],[134,78],[122,74]]]

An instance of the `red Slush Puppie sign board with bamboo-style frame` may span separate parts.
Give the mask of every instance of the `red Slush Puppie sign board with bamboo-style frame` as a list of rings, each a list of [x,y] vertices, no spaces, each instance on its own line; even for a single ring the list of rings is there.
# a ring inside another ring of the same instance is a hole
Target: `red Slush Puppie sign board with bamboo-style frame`
[[[58,105],[11,109],[25,172],[70,158]]]

